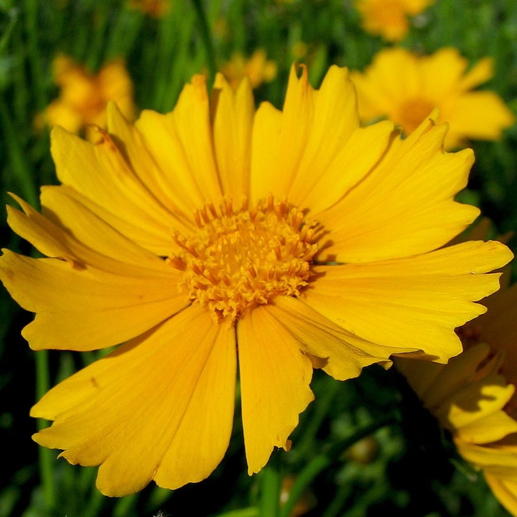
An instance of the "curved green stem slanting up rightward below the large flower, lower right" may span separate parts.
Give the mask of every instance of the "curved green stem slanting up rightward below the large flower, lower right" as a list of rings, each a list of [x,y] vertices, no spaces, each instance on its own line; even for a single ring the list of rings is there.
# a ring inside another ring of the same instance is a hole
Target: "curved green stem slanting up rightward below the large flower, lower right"
[[[370,436],[375,431],[385,427],[386,425],[396,423],[397,421],[398,417],[396,414],[389,414],[384,419],[373,422],[372,424],[360,429],[351,437],[345,438],[344,440],[332,445],[325,454],[319,455],[311,460],[307,466],[302,469],[296,478],[296,481],[293,483],[289,498],[280,512],[280,517],[289,517],[289,515],[291,515],[298,499],[301,497],[307,486],[309,486],[314,478],[323,472],[323,470],[328,468],[333,462],[339,461],[340,455],[343,451],[363,438]]]

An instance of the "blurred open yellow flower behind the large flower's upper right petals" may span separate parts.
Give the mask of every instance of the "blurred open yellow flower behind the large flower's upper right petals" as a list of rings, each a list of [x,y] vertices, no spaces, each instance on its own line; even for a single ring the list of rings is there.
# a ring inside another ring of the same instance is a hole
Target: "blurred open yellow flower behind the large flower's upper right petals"
[[[446,148],[466,139],[497,140],[515,117],[496,93],[472,91],[492,77],[492,59],[481,59],[469,72],[466,68],[467,60],[452,48],[430,56],[384,49],[366,72],[351,73],[361,119],[388,117],[409,134],[438,108],[438,120],[450,124]]]

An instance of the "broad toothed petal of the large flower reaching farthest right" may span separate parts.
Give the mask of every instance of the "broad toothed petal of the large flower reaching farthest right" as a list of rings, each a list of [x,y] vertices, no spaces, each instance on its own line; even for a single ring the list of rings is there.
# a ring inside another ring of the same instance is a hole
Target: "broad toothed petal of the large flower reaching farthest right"
[[[446,362],[461,352],[454,328],[485,311],[472,301],[499,287],[498,274],[479,273],[511,257],[498,242],[466,242],[400,260],[320,266],[303,299],[358,337]]]

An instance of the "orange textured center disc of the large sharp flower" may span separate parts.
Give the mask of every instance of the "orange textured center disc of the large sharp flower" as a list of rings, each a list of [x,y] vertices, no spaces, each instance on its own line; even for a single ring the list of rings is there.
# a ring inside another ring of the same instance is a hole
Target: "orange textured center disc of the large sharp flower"
[[[318,250],[315,225],[272,195],[235,211],[226,198],[196,210],[197,231],[174,234],[181,250],[168,262],[183,271],[178,287],[202,303],[216,320],[235,322],[247,309],[273,296],[298,296],[308,284]]]

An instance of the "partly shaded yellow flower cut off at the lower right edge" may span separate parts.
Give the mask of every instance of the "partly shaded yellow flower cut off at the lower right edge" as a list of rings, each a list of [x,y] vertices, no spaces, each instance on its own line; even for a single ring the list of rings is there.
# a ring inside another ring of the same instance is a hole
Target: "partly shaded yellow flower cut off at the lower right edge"
[[[465,351],[448,364],[396,364],[462,457],[517,515],[517,284],[485,305],[485,314],[459,329]]]

